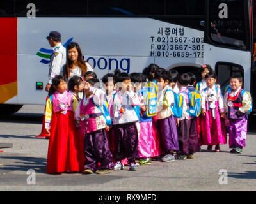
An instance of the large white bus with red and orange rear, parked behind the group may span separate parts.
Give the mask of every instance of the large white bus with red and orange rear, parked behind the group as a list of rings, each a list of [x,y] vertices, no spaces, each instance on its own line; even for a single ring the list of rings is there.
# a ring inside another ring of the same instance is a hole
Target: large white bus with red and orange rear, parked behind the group
[[[254,96],[254,8],[252,0],[1,0],[0,113],[45,104],[50,31],[63,45],[79,43],[99,78],[154,63],[200,80],[198,68],[210,64],[221,87],[238,72]]]

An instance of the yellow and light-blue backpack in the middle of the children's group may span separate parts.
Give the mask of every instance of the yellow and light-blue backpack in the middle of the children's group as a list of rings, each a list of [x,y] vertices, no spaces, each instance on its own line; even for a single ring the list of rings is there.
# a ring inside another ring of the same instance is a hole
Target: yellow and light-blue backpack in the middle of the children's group
[[[144,117],[153,117],[157,113],[157,85],[154,82],[145,82],[143,87],[143,98],[146,112]]]

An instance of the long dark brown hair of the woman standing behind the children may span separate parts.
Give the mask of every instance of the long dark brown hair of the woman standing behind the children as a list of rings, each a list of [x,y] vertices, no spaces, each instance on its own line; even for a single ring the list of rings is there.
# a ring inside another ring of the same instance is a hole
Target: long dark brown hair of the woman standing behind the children
[[[81,51],[81,48],[79,47],[78,43],[76,42],[71,42],[67,45],[67,57],[66,57],[66,64],[64,66],[63,69],[63,75],[65,78],[69,78],[70,77],[70,69],[72,68],[74,62],[68,58],[68,50],[71,50],[72,48],[76,48],[77,52],[78,52],[78,56],[77,56],[77,65],[79,66],[79,68],[81,68],[82,71],[82,75],[84,75],[87,71],[87,66],[86,66],[86,62],[83,59],[83,54]]]

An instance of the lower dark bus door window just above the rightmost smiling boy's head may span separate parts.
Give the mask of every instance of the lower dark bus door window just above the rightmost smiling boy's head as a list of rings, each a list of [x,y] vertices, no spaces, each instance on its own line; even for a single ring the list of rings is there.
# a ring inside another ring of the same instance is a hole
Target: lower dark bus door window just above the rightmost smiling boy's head
[[[223,90],[226,85],[230,84],[230,76],[234,74],[241,75],[244,80],[244,69],[239,64],[217,62],[215,71],[217,75],[217,82],[220,84],[221,90]]]

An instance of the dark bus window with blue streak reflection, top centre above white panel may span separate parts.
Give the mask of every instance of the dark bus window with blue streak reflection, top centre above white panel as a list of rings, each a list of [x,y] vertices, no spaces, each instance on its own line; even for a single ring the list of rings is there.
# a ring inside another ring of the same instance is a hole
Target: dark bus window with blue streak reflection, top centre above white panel
[[[88,15],[164,15],[165,0],[88,0]]]

